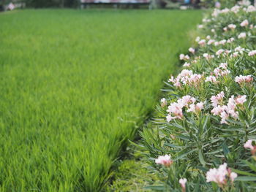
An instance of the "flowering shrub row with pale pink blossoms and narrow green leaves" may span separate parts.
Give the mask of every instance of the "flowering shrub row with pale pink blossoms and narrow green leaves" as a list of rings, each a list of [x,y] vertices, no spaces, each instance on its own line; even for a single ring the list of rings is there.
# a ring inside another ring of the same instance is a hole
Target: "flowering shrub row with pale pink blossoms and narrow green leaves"
[[[184,69],[165,82],[139,145],[161,175],[158,190],[256,191],[255,12],[248,1],[214,9],[180,55]]]

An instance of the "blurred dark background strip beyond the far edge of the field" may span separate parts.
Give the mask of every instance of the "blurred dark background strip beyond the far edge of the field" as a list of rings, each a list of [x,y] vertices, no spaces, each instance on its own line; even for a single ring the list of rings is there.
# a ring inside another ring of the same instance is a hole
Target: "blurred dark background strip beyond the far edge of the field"
[[[254,0],[251,0],[254,4]],[[207,9],[229,7],[236,0],[0,0],[0,11],[24,8]]]

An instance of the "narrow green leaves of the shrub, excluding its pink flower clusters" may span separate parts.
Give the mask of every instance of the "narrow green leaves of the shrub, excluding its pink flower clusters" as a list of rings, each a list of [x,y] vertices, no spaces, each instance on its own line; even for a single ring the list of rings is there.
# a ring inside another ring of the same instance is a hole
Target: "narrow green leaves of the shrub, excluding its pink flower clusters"
[[[201,39],[221,42],[233,37],[234,41],[207,45],[206,40],[205,46],[197,47],[195,55],[190,54],[187,62],[191,66],[187,69],[202,75],[197,83],[188,81],[187,84],[181,83],[179,87],[173,82],[166,82],[163,91],[167,104],[189,95],[195,97],[196,102],[205,101],[203,110],[188,112],[189,107],[184,107],[182,118],[170,120],[168,123],[166,111],[170,108],[157,106],[155,126],[144,128],[140,133],[143,139],[138,146],[146,151],[148,164],[154,168],[154,172],[162,174],[162,185],[159,186],[161,191],[181,191],[178,179],[184,177],[188,180],[187,191],[256,191],[253,183],[256,178],[255,160],[244,148],[248,139],[256,139],[256,55],[248,55],[250,50],[256,50],[256,15],[255,12],[246,12],[243,8],[237,13],[228,11],[206,18],[200,31]],[[246,19],[249,25],[241,26],[241,22]],[[224,28],[231,23],[236,28],[225,31]],[[238,38],[241,32],[246,33],[246,38]],[[208,35],[211,37],[207,37]],[[233,56],[238,46],[243,47],[244,51]],[[217,51],[220,49],[227,52],[218,56]],[[206,58],[204,53],[215,57]],[[214,69],[223,63],[227,63],[230,74],[217,77],[216,83],[206,82],[206,77],[216,75]],[[235,77],[239,75],[252,75],[253,82],[238,85]],[[221,91],[225,93],[222,103],[219,104],[221,106],[227,104],[231,96],[246,95],[246,102],[236,107],[238,116],[229,116],[226,123],[221,123],[221,118],[211,112],[211,96],[216,96]],[[170,154],[174,161],[170,167],[160,166],[154,161],[159,155],[165,154]],[[252,163],[248,161],[250,158]],[[217,183],[206,183],[206,172],[225,162],[239,175],[235,183],[227,181],[229,185],[221,186],[222,188]]]

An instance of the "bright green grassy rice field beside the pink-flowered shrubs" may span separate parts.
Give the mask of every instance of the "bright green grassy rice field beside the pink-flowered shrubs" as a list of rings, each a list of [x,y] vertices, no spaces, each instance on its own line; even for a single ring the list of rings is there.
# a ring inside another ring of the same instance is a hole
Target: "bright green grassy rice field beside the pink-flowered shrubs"
[[[100,191],[200,11],[0,14],[0,191]]]

